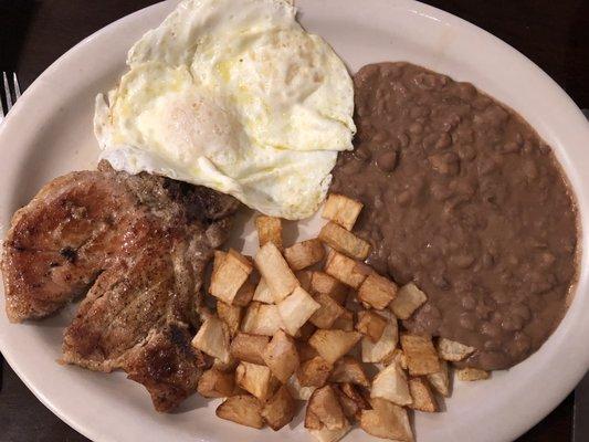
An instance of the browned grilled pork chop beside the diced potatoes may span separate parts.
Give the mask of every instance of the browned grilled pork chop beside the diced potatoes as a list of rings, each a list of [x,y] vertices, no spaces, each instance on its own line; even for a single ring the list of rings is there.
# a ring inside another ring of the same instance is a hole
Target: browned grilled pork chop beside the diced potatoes
[[[12,322],[42,318],[87,292],[64,334],[63,361],[125,370],[169,411],[194,391],[190,346],[204,267],[238,202],[147,173],[73,172],[12,220],[2,272]]]

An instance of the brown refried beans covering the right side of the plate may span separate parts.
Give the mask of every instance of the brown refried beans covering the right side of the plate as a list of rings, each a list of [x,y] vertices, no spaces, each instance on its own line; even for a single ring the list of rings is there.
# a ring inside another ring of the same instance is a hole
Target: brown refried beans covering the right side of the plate
[[[429,301],[403,326],[503,369],[537,350],[577,274],[577,210],[560,167],[516,113],[470,83],[409,63],[354,78],[358,134],[332,192],[365,204],[368,257]]]

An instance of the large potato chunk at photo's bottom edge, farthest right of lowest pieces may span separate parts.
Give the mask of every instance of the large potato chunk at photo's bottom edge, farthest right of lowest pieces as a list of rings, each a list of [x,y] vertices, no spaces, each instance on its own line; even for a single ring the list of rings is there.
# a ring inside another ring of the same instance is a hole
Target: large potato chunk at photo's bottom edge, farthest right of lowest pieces
[[[395,441],[412,442],[407,410],[385,399],[372,399],[372,410],[364,410],[360,428],[368,434]]]

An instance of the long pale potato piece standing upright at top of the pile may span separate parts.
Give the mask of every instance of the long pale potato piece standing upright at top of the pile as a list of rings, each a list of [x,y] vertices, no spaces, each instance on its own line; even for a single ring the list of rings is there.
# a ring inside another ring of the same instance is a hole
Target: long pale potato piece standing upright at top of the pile
[[[273,242],[266,242],[257,251],[254,261],[262,277],[266,280],[275,303],[284,299],[298,286],[298,280]]]

